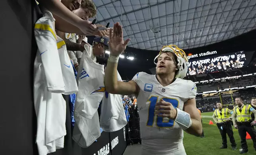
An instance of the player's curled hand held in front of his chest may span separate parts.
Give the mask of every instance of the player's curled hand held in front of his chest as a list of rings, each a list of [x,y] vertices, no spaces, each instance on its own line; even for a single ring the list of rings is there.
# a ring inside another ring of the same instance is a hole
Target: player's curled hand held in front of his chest
[[[167,117],[169,119],[175,119],[177,115],[177,110],[169,102],[165,102],[161,99],[160,102],[157,102],[155,105],[155,113],[159,117]]]

